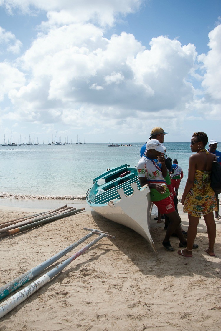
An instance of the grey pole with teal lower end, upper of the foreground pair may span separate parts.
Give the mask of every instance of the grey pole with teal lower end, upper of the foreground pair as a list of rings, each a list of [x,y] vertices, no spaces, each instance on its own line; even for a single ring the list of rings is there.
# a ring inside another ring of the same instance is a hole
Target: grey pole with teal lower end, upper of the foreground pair
[[[98,230],[96,230],[98,231]],[[60,251],[59,253],[55,254],[48,260],[45,260],[44,262],[38,264],[34,268],[26,271],[21,276],[18,276],[17,278],[13,279],[8,284],[2,286],[0,288],[0,300],[5,298],[7,295],[9,295],[11,292],[15,291],[17,288],[21,287],[23,284],[27,283],[32,278],[39,275],[43,270],[48,268],[51,264],[56,262],[57,260],[61,259],[64,255],[72,251],[74,248],[82,244],[85,240],[90,238],[94,233],[91,231],[87,235],[85,235],[83,238],[76,241],[74,244],[66,247],[64,250]]]

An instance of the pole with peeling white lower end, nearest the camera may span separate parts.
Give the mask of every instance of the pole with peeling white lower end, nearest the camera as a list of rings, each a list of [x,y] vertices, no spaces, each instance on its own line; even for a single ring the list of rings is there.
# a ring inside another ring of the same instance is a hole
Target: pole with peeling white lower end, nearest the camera
[[[45,273],[40,278],[36,279],[33,283],[26,286],[21,291],[14,294],[11,298],[4,301],[2,304],[0,304],[0,318],[2,318],[4,315],[6,315],[9,311],[11,311],[13,308],[17,307],[20,303],[25,301],[31,294],[36,292],[39,288],[41,288],[44,284],[48,283],[49,280],[51,280],[53,277],[55,277],[58,273],[60,273],[68,264],[70,264],[72,261],[77,259],[81,254],[86,252],[91,246],[96,244],[99,240],[101,240],[106,235],[104,233],[101,233],[96,239],[91,241],[89,244],[84,246],[80,251],[72,255],[67,260],[61,262],[59,265],[57,265],[52,270]]]

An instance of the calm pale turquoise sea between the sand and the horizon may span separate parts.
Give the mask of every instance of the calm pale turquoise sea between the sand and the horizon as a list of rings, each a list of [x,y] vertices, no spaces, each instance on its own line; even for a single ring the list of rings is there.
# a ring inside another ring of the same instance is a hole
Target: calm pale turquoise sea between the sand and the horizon
[[[143,143],[131,144],[130,147],[108,147],[107,143],[0,146],[0,193],[26,199],[85,197],[93,179],[107,167],[137,165]],[[167,156],[177,159],[184,172],[178,196],[181,197],[188,176],[190,143],[164,145]]]

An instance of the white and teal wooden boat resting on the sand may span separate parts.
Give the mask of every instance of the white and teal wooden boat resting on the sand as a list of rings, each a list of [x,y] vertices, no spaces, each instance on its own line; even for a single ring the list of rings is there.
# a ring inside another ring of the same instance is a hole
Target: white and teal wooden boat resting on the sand
[[[135,167],[125,164],[108,168],[94,178],[86,201],[98,214],[139,233],[157,253],[150,235],[150,189],[148,185],[140,186]]]

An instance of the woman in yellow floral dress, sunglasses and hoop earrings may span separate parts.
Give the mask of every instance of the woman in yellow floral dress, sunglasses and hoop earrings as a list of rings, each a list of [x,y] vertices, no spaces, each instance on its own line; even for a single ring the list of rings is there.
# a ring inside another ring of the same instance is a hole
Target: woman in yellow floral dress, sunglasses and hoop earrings
[[[216,223],[213,212],[217,211],[216,197],[210,186],[210,175],[214,155],[205,150],[208,137],[204,132],[194,132],[190,148],[195,154],[190,156],[188,179],[184,189],[181,203],[184,205],[184,213],[188,213],[189,227],[187,233],[187,248],[178,251],[185,257],[193,257],[192,248],[197,233],[199,217],[203,215],[209,246],[206,253],[214,254],[214,243],[216,238]]]

